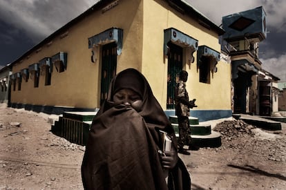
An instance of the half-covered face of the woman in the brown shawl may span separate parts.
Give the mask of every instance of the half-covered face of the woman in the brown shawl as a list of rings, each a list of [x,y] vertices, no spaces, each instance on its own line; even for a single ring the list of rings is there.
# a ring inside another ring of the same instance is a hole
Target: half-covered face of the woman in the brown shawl
[[[113,95],[113,102],[117,104],[124,104],[125,106],[131,106],[135,109],[135,111],[139,112],[142,108],[142,98],[140,95],[135,93],[135,91],[123,88],[120,91],[117,91]]]

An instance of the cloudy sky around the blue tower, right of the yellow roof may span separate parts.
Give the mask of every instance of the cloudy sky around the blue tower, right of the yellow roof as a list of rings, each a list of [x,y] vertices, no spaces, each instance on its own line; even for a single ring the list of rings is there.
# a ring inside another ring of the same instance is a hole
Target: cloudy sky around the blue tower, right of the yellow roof
[[[184,0],[220,26],[222,17],[263,6],[267,15],[267,39],[259,44],[263,69],[286,82],[286,1],[284,0]]]

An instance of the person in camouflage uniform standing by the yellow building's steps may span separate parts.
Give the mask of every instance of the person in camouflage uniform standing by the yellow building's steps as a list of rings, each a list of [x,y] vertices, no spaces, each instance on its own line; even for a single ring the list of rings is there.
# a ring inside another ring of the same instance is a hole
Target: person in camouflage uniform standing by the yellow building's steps
[[[189,101],[189,95],[186,89],[188,73],[182,70],[179,75],[179,82],[175,88],[175,115],[178,117],[179,124],[179,153],[189,155],[190,153],[184,149],[184,145],[189,145],[189,150],[198,150],[198,147],[191,144],[191,128],[189,127],[189,108],[196,107],[193,99]]]

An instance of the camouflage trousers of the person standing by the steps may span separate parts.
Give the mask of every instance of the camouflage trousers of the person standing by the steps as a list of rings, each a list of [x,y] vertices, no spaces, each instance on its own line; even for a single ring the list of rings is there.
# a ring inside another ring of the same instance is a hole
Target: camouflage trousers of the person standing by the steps
[[[191,128],[189,126],[189,117],[178,116],[179,124],[179,148],[183,148],[184,145],[189,146],[191,144]]]

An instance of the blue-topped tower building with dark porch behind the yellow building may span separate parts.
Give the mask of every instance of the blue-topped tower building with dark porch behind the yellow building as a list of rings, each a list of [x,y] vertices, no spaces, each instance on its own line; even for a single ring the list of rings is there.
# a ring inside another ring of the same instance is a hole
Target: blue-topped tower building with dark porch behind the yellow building
[[[262,6],[222,17],[222,50],[231,57],[233,113],[271,115],[278,111],[278,77],[263,69],[259,42],[267,37]]]

